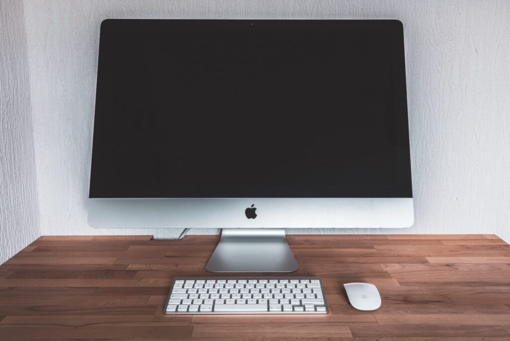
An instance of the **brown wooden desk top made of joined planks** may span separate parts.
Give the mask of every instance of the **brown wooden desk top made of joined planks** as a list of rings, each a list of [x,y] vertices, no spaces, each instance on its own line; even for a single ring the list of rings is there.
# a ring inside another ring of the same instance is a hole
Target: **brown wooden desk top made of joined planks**
[[[41,237],[0,266],[0,339],[510,340],[510,246],[495,235],[291,235],[296,276],[322,276],[327,315],[167,316],[174,276],[218,236]],[[352,308],[343,283],[377,285]]]

